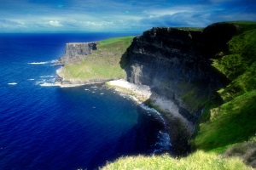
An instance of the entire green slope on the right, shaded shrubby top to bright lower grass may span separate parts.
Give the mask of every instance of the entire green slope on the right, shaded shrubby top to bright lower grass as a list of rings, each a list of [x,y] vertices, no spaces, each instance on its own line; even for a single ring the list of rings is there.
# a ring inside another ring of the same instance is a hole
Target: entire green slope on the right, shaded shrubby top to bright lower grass
[[[212,64],[232,82],[218,93],[224,105],[212,108],[210,120],[201,123],[192,141],[197,149],[222,153],[256,133],[256,23],[229,42],[230,52]]]

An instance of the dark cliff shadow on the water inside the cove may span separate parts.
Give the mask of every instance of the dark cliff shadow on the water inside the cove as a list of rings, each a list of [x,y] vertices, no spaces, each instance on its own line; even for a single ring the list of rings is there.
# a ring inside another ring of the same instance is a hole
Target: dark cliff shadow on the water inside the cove
[[[171,153],[169,135],[166,126],[157,112],[145,106],[138,105],[137,125],[119,137],[116,141],[108,142],[97,148],[90,160],[89,169],[104,166],[108,161],[114,161],[120,156],[152,156],[161,153]],[[166,135],[162,135],[166,134]]]

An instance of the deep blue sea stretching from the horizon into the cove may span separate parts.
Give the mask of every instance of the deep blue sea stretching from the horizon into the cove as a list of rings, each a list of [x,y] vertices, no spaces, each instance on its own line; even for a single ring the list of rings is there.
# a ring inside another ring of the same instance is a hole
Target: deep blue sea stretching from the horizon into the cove
[[[127,35],[135,34],[0,34],[0,169],[97,169],[172,151],[157,111],[104,84],[54,84],[67,42]]]

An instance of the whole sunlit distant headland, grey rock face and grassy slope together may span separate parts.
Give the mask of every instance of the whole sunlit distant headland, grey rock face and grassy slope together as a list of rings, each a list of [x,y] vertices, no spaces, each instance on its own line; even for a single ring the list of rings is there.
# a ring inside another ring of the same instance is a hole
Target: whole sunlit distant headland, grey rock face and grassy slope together
[[[56,63],[65,66],[56,71],[55,82],[61,85],[83,85],[125,78],[125,71],[119,61],[125,56],[132,39],[133,36],[98,42],[67,43],[64,56]]]

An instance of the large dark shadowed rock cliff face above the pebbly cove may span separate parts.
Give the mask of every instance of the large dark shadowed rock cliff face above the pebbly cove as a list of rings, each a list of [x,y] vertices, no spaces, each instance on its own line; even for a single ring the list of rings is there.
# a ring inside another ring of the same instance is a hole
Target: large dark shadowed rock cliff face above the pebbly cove
[[[127,79],[172,99],[179,113],[194,122],[227,80],[211,66],[211,58],[227,49],[236,26],[215,24],[203,31],[153,28],[135,37],[129,49]]]

